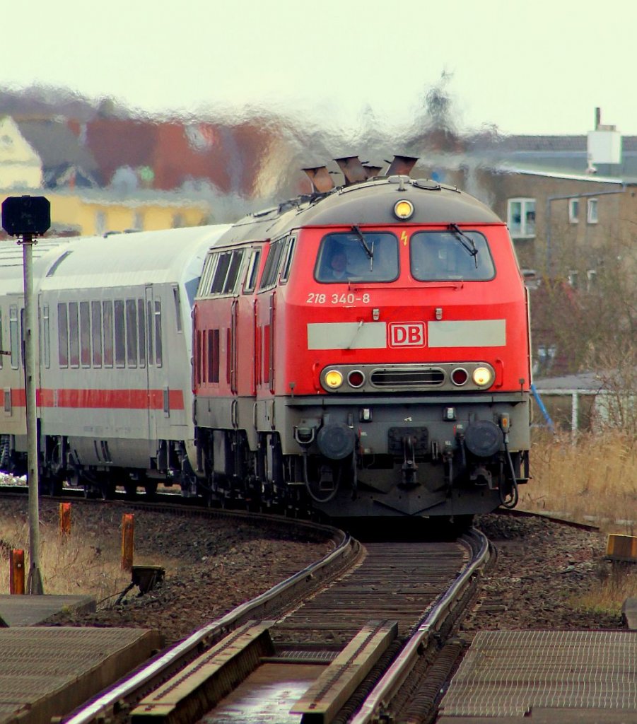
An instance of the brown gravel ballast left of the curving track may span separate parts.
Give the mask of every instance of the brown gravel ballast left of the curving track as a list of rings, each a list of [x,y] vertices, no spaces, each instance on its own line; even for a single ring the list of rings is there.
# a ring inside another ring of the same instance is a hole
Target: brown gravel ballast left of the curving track
[[[26,500],[3,500],[4,516],[28,515]],[[41,500],[42,523],[57,525],[57,504]],[[86,544],[111,544],[105,531],[117,531],[122,508],[82,505],[73,513],[82,521]],[[0,520],[1,522],[1,520]],[[74,523],[75,525],[75,523]],[[135,587],[119,605],[117,597],[96,613],[59,613],[52,626],[132,626],[156,628],[166,644],[189,636],[221,618],[242,602],[263,593],[334,549],[320,533],[303,539],[287,526],[244,523],[232,518],[213,521],[135,511],[135,562],[161,558],[178,562],[166,569],[161,584],[140,595]],[[0,556],[5,555],[0,547]],[[46,591],[45,591],[46,592]],[[71,591],[69,593],[76,593]]]

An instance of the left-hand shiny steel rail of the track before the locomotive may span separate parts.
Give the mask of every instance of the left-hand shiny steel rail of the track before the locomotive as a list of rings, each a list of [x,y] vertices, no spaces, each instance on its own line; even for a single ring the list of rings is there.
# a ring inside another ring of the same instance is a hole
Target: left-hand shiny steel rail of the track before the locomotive
[[[328,526],[321,527],[326,528]],[[318,571],[334,563],[339,557],[345,556],[349,550],[358,550],[358,542],[349,534],[345,533],[339,546],[321,558],[321,560],[316,563],[311,563],[303,568],[302,571],[298,571],[298,573],[290,576],[290,578],[286,578],[276,586],[272,586],[271,589],[263,594],[248,602],[242,603],[240,606],[237,606],[222,616],[222,618],[211,621],[211,623],[195,631],[195,633],[187,639],[184,639],[184,641],[180,641],[180,643],[175,644],[174,647],[171,647],[168,651],[159,654],[158,657],[148,665],[143,666],[143,668],[138,670],[131,678],[127,678],[125,681],[122,681],[122,683],[116,684],[104,692],[104,694],[98,695],[96,699],[85,704],[81,709],[75,710],[75,713],[72,714],[71,717],[64,719],[64,724],[91,724],[98,720],[98,717],[104,717],[109,712],[113,712],[119,702],[122,702],[122,699],[126,699],[127,696],[132,695],[136,689],[140,689],[145,684],[151,682],[153,678],[161,675],[173,665],[178,665],[180,660],[193,652],[193,649],[201,645],[205,646],[210,639],[214,639],[216,634],[224,631],[224,629],[229,629],[231,626],[235,626],[242,619],[246,620],[250,613],[255,612],[260,607],[266,607],[269,602],[284,592],[300,586],[303,584],[303,581],[315,576]]]

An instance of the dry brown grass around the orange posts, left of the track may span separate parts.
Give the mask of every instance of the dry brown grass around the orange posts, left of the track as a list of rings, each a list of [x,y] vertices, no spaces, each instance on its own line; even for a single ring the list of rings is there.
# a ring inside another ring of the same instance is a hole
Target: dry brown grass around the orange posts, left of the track
[[[4,518],[0,515],[0,539],[4,550],[25,551],[28,571],[28,520]],[[98,604],[112,605],[118,594],[130,584],[130,571],[122,571],[122,532],[117,523],[112,529],[96,531],[83,521],[73,521],[70,535],[61,535],[59,526],[41,523],[40,571],[46,594],[90,595]],[[146,561],[135,554],[135,564],[157,563]],[[170,561],[160,565],[174,567]],[[9,565],[1,566],[0,593],[9,593]],[[25,581],[26,584],[26,581]],[[135,589],[136,590],[136,589]]]

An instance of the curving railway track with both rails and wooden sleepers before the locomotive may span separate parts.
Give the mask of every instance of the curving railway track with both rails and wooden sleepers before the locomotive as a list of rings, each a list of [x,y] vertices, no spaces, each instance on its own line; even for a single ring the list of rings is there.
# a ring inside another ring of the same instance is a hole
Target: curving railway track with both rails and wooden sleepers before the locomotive
[[[344,536],[324,560],[194,633],[67,722],[372,721],[405,682],[414,686],[413,671],[434,662],[487,557],[476,531],[363,547]]]

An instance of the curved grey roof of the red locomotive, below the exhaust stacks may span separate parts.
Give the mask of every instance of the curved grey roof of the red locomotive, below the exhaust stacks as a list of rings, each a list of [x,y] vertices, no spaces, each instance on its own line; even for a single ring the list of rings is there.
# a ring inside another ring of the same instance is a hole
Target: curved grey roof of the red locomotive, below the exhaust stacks
[[[429,179],[381,177],[329,193],[300,196],[240,219],[222,243],[267,239],[304,226],[396,224],[394,205],[405,198],[413,203],[409,224],[497,224],[497,214],[457,188]]]

